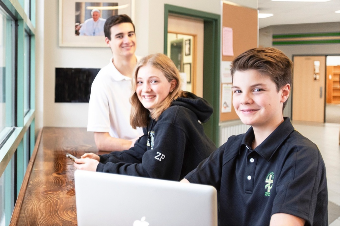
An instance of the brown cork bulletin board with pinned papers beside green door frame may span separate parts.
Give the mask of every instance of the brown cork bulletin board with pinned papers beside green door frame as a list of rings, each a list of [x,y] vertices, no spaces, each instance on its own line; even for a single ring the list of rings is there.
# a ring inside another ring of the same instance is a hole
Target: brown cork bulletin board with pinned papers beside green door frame
[[[223,3],[222,27],[228,27],[233,32],[233,56],[224,56],[222,52],[222,61],[233,61],[233,59],[246,50],[257,47],[258,38],[258,19],[257,10],[242,6],[230,5]],[[222,28],[223,30],[223,28]],[[222,32],[223,34],[223,32]],[[223,37],[222,37],[223,39]],[[222,44],[223,45],[223,44]],[[223,48],[223,46],[222,46]],[[220,84],[220,96],[222,97],[222,86]],[[222,104],[222,98],[221,103]],[[220,121],[238,119],[238,116],[232,107],[231,112],[222,113],[220,109]]]

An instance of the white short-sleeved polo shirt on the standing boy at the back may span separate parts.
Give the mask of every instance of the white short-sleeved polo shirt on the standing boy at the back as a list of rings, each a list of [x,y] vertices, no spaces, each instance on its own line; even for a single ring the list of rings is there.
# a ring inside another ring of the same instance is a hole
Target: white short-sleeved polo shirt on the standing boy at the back
[[[87,131],[108,132],[112,137],[133,139],[143,135],[143,131],[141,128],[134,130],[130,125],[131,78],[122,75],[112,59],[92,83]]]

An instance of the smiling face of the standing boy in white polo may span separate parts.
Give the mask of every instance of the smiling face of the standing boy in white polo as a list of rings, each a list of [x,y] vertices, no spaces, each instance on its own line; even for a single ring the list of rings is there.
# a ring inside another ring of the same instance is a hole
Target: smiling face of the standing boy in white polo
[[[111,40],[105,37],[114,58],[132,56],[136,51],[136,35],[132,23],[119,23],[111,27]]]

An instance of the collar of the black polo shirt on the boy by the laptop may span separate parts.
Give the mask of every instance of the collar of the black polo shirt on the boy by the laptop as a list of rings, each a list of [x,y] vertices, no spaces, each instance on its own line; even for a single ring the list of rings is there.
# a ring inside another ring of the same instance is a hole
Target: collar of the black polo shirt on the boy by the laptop
[[[270,161],[270,158],[273,156],[275,151],[293,131],[294,127],[291,124],[290,119],[288,117],[284,117],[283,123],[281,123],[265,140],[263,140],[263,142],[257,146],[254,151],[267,161]],[[239,151],[241,152],[241,150],[247,146],[250,148],[254,138],[255,135],[253,127],[250,127],[243,136]]]

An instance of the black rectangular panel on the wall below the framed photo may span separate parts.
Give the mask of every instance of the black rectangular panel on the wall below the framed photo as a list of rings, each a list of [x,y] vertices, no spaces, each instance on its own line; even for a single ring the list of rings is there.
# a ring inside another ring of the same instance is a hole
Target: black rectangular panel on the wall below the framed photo
[[[91,84],[99,70],[97,68],[56,68],[55,102],[88,102]]]

